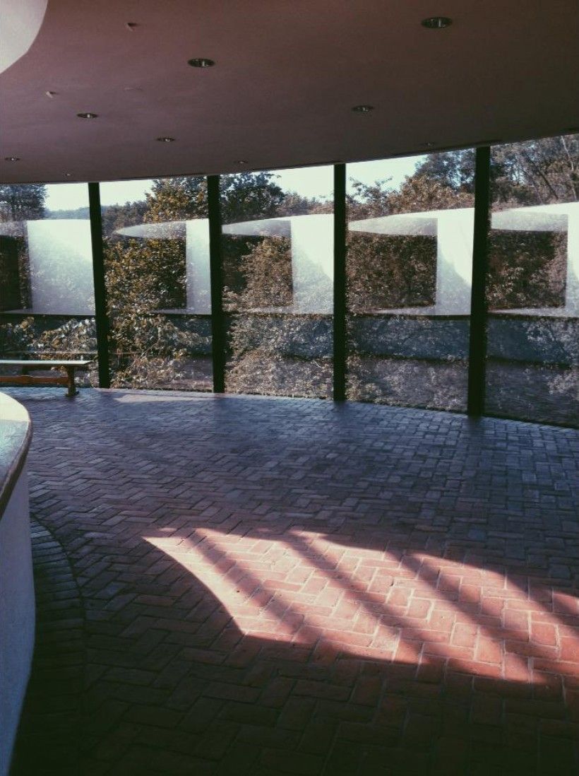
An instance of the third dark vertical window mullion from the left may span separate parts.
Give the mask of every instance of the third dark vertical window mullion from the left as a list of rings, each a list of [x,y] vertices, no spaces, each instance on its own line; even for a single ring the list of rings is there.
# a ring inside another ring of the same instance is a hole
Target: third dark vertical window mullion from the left
[[[333,400],[346,399],[346,165],[334,165]]]

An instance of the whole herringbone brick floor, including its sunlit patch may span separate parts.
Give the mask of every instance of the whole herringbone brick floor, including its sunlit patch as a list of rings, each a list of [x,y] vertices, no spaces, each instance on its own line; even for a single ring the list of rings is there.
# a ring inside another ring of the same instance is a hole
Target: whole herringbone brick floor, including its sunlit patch
[[[39,630],[20,774],[572,774],[579,434],[12,391]]]

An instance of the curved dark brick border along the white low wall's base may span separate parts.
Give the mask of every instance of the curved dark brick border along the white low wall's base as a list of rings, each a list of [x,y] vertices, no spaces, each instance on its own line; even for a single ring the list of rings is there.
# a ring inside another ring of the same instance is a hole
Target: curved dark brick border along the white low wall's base
[[[71,564],[47,528],[31,519],[36,644],[11,776],[78,776],[86,650],[84,608]]]

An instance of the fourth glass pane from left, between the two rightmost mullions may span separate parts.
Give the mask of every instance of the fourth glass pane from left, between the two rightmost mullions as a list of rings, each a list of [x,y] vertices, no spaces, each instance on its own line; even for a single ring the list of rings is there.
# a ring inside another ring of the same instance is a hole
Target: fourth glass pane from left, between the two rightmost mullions
[[[350,399],[465,411],[474,151],[346,166]]]

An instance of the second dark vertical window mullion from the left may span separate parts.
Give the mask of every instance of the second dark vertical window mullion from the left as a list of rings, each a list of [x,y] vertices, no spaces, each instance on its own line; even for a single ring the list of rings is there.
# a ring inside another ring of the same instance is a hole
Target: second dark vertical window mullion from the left
[[[223,271],[221,250],[221,204],[219,175],[207,176],[209,210],[209,265],[211,273],[211,331],[213,391],[225,392],[226,331],[223,316]]]

